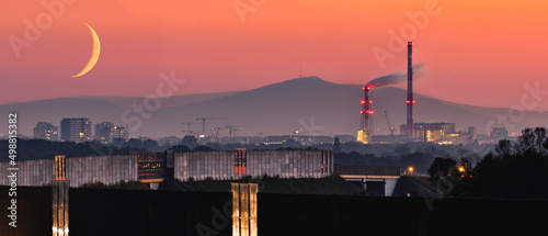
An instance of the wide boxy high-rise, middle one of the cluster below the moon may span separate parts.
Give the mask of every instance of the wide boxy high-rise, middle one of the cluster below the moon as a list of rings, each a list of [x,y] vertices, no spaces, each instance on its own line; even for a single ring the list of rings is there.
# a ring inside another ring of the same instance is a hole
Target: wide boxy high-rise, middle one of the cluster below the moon
[[[91,141],[91,121],[89,119],[62,119],[61,142],[82,143]]]

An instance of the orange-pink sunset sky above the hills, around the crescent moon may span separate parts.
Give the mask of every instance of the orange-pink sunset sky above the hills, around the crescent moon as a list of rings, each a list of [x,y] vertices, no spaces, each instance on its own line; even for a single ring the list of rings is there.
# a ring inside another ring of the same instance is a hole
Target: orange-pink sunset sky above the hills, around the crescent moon
[[[305,76],[363,85],[406,70],[406,49],[381,66],[374,48],[390,52],[389,31],[401,36],[413,24],[407,13],[427,9],[437,14],[426,13],[427,23],[403,37],[414,42],[414,63],[425,65],[415,92],[482,106],[520,104],[524,86],[537,81],[548,93],[548,2],[541,0],[236,1],[253,10],[244,22],[233,0],[76,0],[16,58],[8,38],[25,38],[25,19],[36,24],[47,12],[43,2],[56,1],[2,1],[0,103],[145,97],[160,72],[172,70],[186,80],[176,94],[247,90],[298,77],[299,61]],[[91,55],[83,22],[99,34],[101,57],[71,79]],[[541,98],[534,110],[548,111],[548,94]]]

